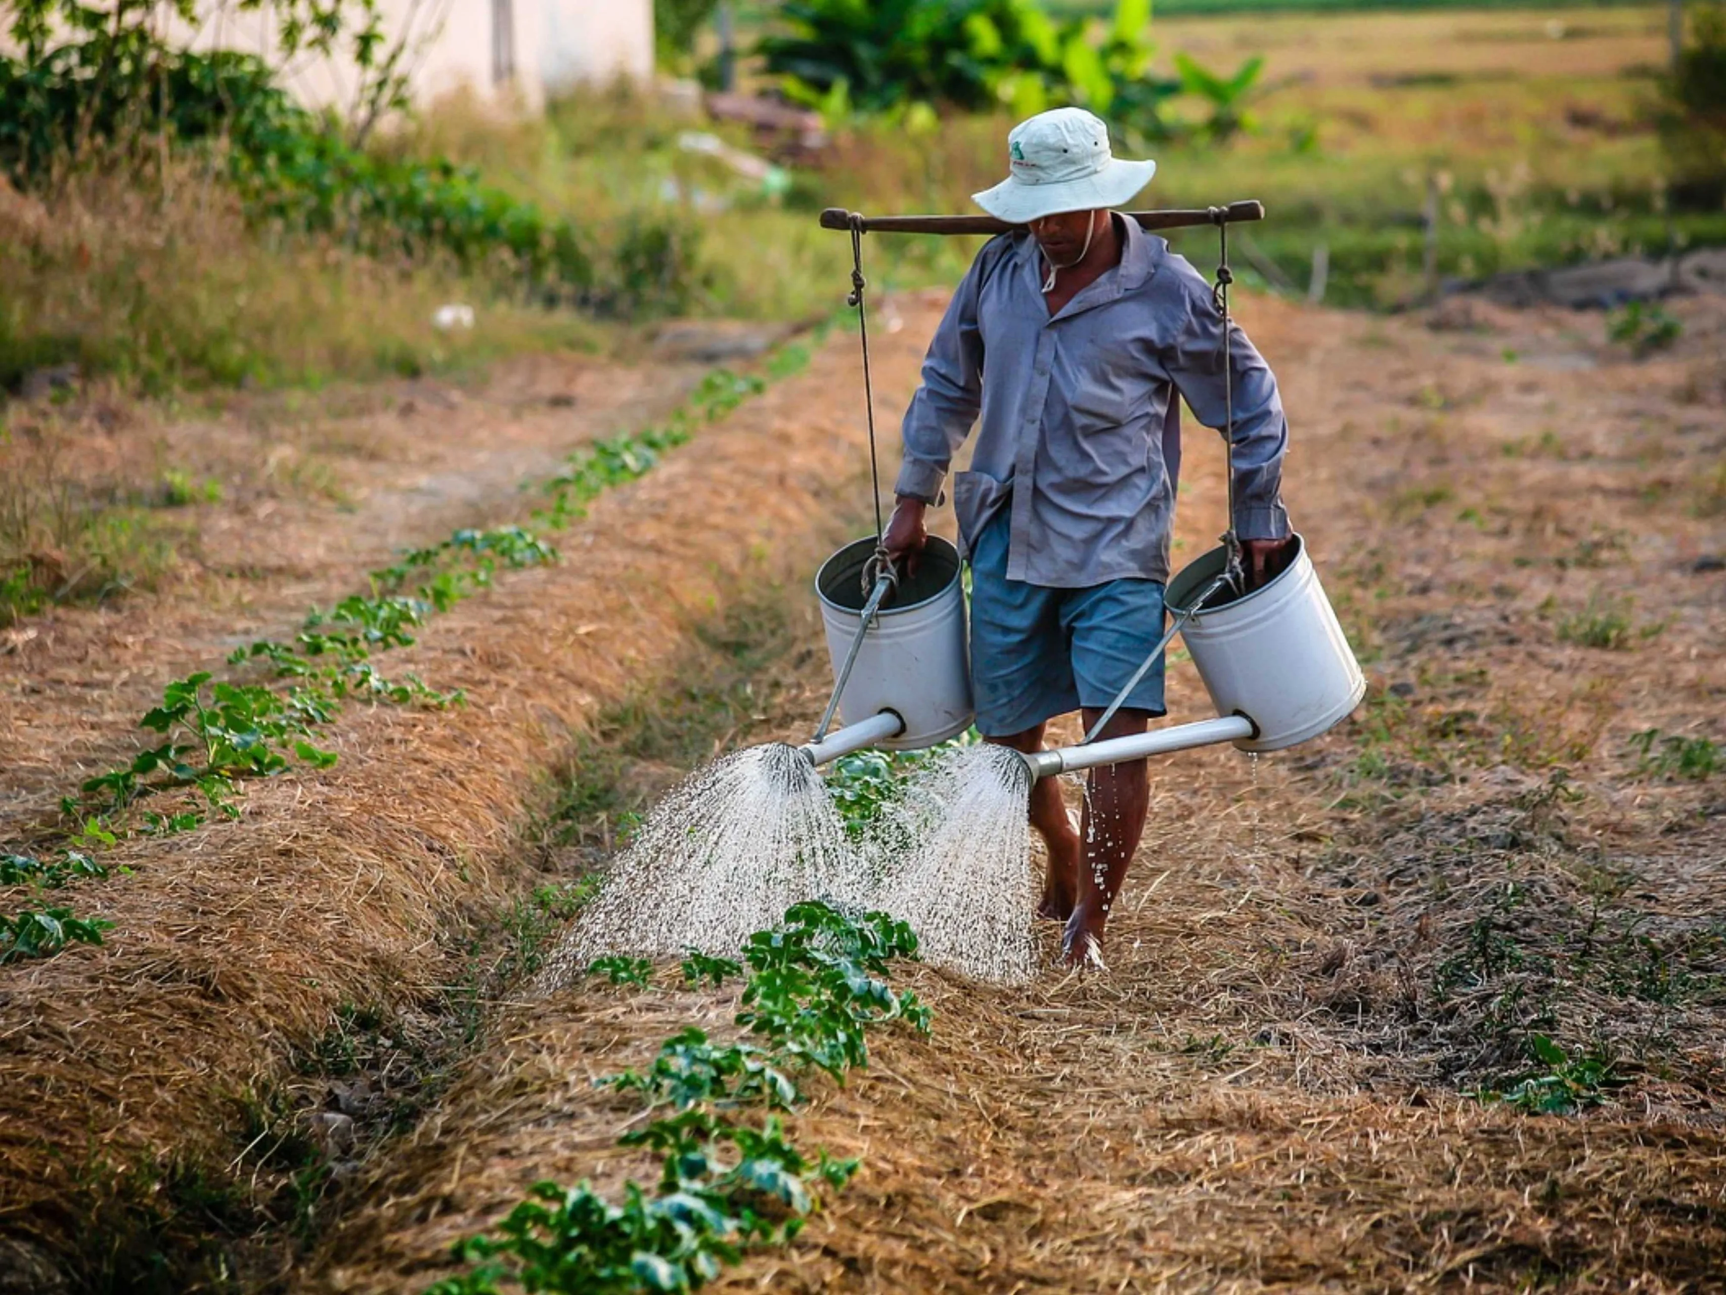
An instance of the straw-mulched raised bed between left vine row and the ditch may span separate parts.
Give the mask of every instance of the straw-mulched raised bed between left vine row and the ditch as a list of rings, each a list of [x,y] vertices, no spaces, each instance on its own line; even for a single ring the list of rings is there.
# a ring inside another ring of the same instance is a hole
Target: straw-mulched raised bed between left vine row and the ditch
[[[932,323],[908,309],[917,326],[880,342],[889,401]],[[93,1184],[174,1162],[219,1179],[249,1103],[343,1005],[404,1010],[457,976],[463,932],[537,877],[518,829],[575,734],[661,677],[737,582],[801,578],[861,433],[839,340],[601,499],[559,566],[501,578],[387,660],[466,689],[464,706],[350,710],[328,774],[250,786],[236,824],[110,851],[129,875],[78,894],[116,924],[107,944],[0,972],[7,1229],[76,1252]]]

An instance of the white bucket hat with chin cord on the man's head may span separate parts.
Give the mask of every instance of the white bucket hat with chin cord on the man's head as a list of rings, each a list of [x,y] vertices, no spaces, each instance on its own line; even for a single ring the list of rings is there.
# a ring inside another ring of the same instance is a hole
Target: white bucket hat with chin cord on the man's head
[[[1108,126],[1084,109],[1049,109],[1006,136],[1010,173],[972,200],[1008,224],[1061,211],[1118,207],[1151,183],[1156,162],[1125,162],[1108,148]]]

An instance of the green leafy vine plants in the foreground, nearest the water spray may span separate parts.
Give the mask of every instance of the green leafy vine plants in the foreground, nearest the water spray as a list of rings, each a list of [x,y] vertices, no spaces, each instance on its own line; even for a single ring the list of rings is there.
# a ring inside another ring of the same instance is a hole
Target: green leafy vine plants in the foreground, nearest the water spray
[[[823,903],[796,905],[753,934],[740,963],[692,950],[682,965],[690,984],[718,988],[747,967],[737,1024],[754,1041],[721,1046],[689,1027],[646,1071],[599,1081],[639,1093],[654,1115],[620,1145],[659,1157],[658,1186],[627,1183],[611,1203],[589,1183],[535,1183],[494,1231],[456,1243],[469,1269],[425,1295],[689,1292],[749,1250],[791,1241],[818,1193],[842,1190],[860,1167],[791,1141],[780,1112],[804,1102],[796,1076],[815,1067],[842,1083],[868,1064],[865,1031],[892,1020],[927,1034],[929,1008],[887,982],[892,962],[915,957],[903,922]],[[759,1107],[768,1114],[747,1122]]]

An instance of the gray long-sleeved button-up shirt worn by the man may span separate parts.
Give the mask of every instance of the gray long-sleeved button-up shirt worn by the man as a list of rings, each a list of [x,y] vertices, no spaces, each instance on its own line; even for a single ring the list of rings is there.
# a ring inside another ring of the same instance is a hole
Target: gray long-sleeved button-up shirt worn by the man
[[[1037,240],[991,240],[960,283],[904,414],[896,494],[934,501],[980,418],[972,470],[953,478],[960,537],[1011,511],[1010,580],[1082,589],[1169,578],[1181,401],[1225,425],[1222,316],[1210,285],[1162,238],[1115,218],[1120,264],[1058,314]],[[1288,534],[1288,420],[1270,368],[1239,325],[1234,356],[1234,527]]]

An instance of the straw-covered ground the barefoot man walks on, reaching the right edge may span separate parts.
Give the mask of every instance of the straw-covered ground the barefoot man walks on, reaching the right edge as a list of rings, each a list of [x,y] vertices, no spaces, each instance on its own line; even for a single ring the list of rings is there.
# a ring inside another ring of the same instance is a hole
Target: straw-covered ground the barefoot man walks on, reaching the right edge
[[[1369,703],[1288,755],[1155,767],[1108,974],[911,976],[934,1038],[885,1036],[799,1119],[863,1172],[721,1288],[1717,1286],[1726,799],[1667,739],[1726,741],[1726,319],[1681,304],[1679,345],[1633,361],[1598,316],[1458,309],[1248,306]],[[1179,556],[1217,528],[1210,449]],[[1191,666],[1172,698],[1203,713]],[[632,1107],[590,1079],[723,1014],[611,989],[506,1012],[304,1288],[418,1290],[532,1181],[614,1184]],[[1522,1079],[1576,1110],[1471,1095]]]

